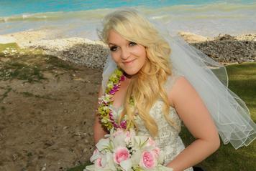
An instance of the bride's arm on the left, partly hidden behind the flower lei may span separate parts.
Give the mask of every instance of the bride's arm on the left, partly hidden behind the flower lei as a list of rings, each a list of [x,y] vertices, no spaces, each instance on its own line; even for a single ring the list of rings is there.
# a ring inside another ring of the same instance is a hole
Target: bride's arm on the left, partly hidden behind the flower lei
[[[103,94],[102,91],[102,86],[99,86],[99,95],[98,97],[101,97]],[[98,106],[97,106],[98,107]],[[99,115],[95,114],[95,119],[94,119],[94,125],[93,125],[93,138],[94,138],[94,143],[97,144],[101,138],[104,137],[108,132],[104,130],[104,127],[102,127],[101,122],[99,120]]]

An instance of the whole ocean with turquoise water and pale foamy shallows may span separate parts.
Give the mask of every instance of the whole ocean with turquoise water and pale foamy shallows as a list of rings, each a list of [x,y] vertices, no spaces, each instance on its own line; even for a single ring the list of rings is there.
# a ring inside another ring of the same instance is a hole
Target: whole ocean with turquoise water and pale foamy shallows
[[[203,36],[256,33],[256,1],[106,1],[106,0],[1,0],[0,34],[52,29],[58,36],[98,39],[101,19],[116,8],[129,6],[153,21],[163,23],[170,34],[188,31]]]

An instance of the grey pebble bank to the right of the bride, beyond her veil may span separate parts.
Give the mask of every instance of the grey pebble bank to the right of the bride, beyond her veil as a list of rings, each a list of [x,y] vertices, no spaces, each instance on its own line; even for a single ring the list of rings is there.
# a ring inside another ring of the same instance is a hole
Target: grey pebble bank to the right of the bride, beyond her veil
[[[256,62],[256,35],[219,34],[214,39],[191,43],[216,62],[224,64]]]

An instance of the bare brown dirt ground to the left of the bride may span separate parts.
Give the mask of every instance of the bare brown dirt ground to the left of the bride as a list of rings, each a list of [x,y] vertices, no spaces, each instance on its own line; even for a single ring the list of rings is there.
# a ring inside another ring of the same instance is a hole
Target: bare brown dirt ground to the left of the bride
[[[12,59],[0,58],[1,75]],[[91,156],[101,71],[71,68],[42,69],[40,82],[1,77],[0,170],[66,170]]]

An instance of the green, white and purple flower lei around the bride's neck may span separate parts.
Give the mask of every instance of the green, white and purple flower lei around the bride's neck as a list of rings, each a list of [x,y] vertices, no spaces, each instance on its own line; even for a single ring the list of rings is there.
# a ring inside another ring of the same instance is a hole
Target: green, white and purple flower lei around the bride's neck
[[[120,125],[114,121],[113,112],[110,109],[110,105],[113,104],[111,97],[119,90],[120,82],[124,81],[125,77],[120,69],[115,69],[113,74],[109,77],[109,81],[106,85],[106,91],[101,98],[99,98],[99,117],[101,119],[101,124],[103,124],[107,130],[111,130],[113,127],[115,129],[127,128],[127,120],[122,120]]]

